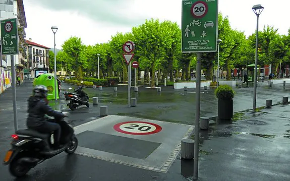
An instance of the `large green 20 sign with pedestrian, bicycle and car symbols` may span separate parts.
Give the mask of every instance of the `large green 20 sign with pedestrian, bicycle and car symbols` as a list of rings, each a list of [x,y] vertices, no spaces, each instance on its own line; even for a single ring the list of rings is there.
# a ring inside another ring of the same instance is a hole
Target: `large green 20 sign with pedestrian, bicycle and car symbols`
[[[182,1],[183,53],[217,51],[218,0]]]

